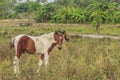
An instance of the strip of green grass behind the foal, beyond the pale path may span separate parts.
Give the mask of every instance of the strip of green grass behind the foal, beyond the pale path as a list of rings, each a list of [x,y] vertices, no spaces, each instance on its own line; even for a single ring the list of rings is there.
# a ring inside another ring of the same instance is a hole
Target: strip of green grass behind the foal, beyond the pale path
[[[103,24],[99,34],[120,36],[119,25]],[[11,37],[18,34],[41,35],[54,30],[66,30],[69,34],[98,34],[90,24],[35,24],[33,26],[1,26],[0,36]],[[11,34],[11,35],[7,35]]]

